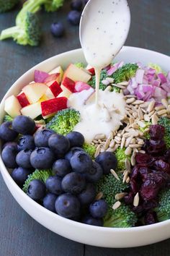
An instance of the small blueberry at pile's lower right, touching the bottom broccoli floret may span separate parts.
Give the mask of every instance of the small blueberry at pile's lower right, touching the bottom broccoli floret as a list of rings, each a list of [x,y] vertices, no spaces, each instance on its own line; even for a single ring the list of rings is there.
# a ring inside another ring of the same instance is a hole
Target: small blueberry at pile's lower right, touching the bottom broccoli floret
[[[89,213],[94,218],[103,218],[107,213],[107,202],[104,199],[100,199],[94,202],[91,202],[89,206]]]

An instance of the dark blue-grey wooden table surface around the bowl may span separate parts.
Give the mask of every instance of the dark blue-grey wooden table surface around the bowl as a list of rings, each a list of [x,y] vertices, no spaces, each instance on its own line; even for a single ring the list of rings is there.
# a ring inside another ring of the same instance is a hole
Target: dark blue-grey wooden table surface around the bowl
[[[107,0],[105,0],[107,2]],[[41,12],[43,40],[38,48],[18,46],[12,40],[0,42],[1,98],[17,78],[40,61],[63,51],[79,48],[79,28],[66,21],[69,2],[59,12]],[[126,45],[149,48],[170,55],[170,1],[129,0],[132,24]],[[14,25],[19,8],[0,14],[0,30]],[[50,35],[50,24],[62,20],[64,38]],[[146,247],[107,249],[65,239],[45,229],[19,207],[0,176],[0,256],[168,256],[170,239]]]

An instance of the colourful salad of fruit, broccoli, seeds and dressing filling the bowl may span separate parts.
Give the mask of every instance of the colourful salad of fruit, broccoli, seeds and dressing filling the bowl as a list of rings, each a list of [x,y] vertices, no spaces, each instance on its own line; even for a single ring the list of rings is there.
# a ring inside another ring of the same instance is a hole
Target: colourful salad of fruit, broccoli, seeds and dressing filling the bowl
[[[0,126],[1,159],[29,202],[104,232],[170,218],[170,72],[118,59],[100,74],[99,122],[88,112],[94,68],[81,58],[32,69],[4,98]]]

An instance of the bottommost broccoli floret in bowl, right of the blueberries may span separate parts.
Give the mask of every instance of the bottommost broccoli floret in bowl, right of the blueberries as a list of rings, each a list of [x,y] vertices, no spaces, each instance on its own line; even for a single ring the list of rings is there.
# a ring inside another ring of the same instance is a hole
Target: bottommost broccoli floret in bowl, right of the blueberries
[[[110,228],[130,228],[135,226],[137,217],[127,205],[120,205],[116,210],[109,208],[104,217],[104,226]]]

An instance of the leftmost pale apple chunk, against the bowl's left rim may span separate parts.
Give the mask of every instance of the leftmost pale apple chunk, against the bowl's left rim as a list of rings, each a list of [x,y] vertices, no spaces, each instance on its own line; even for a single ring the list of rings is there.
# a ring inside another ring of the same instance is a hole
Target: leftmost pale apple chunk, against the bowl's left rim
[[[9,96],[9,98],[6,98],[4,111],[6,111],[6,113],[9,114],[9,116],[19,116],[21,114],[21,108],[22,106],[19,104],[18,99],[14,95]]]

